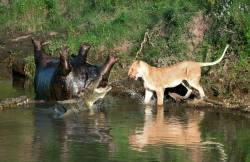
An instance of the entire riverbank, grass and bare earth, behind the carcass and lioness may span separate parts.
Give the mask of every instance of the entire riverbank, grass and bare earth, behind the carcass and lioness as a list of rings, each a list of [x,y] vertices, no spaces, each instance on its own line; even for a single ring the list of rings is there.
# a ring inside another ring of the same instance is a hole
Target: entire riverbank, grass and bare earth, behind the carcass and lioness
[[[62,45],[76,54],[82,42],[93,45],[89,62],[101,63],[109,53],[120,62],[110,83],[143,93],[142,84],[128,81],[132,61],[162,67],[178,61],[223,61],[202,69],[205,94],[225,103],[250,105],[250,17],[244,1],[4,1],[0,2],[0,62],[8,73],[33,79],[31,37],[58,56]],[[74,12],[73,12],[74,11]]]

